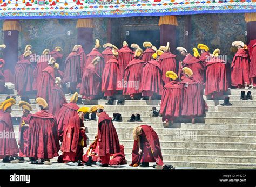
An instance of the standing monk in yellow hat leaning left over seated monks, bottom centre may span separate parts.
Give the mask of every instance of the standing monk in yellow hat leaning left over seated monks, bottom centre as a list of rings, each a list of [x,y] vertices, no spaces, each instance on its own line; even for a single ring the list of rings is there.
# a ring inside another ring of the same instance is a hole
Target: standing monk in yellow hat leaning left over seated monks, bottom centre
[[[103,106],[96,105],[89,109],[89,112],[96,112],[98,116],[98,155],[102,161],[102,167],[109,166],[111,154],[120,152],[119,140],[114,128],[112,118],[103,111]]]

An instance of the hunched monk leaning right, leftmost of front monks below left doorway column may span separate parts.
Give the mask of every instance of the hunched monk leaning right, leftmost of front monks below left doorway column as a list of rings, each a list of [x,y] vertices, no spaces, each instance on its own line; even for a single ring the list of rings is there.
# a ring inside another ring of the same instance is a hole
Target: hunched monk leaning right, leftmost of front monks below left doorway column
[[[102,78],[96,71],[96,66],[98,66],[99,62],[100,57],[96,57],[84,71],[80,89],[80,94],[83,95],[83,99],[92,100],[101,95]]]

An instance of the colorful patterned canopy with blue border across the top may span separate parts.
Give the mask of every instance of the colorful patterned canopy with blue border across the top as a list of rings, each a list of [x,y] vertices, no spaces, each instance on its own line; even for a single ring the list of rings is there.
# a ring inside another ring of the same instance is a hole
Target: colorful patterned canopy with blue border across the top
[[[1,19],[256,12],[256,0],[0,0]]]

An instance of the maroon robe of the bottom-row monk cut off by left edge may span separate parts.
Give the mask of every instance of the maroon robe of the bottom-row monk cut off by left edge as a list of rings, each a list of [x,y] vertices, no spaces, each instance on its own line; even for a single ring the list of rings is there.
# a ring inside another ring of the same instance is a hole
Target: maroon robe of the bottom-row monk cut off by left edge
[[[3,110],[0,110],[0,132],[3,134],[0,138],[0,159],[6,156],[17,156],[19,148],[15,139],[11,114]]]

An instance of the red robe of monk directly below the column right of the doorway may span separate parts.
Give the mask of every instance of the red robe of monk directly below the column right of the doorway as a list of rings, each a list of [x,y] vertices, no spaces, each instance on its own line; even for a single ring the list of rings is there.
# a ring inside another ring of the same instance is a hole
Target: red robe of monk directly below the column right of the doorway
[[[164,84],[167,84],[170,82],[169,77],[165,76],[165,73],[167,71],[173,71],[174,73],[177,72],[175,58],[176,58],[176,55],[172,54],[169,51],[166,51],[159,56],[158,63],[160,64],[161,70],[163,72],[162,80],[164,81]]]

